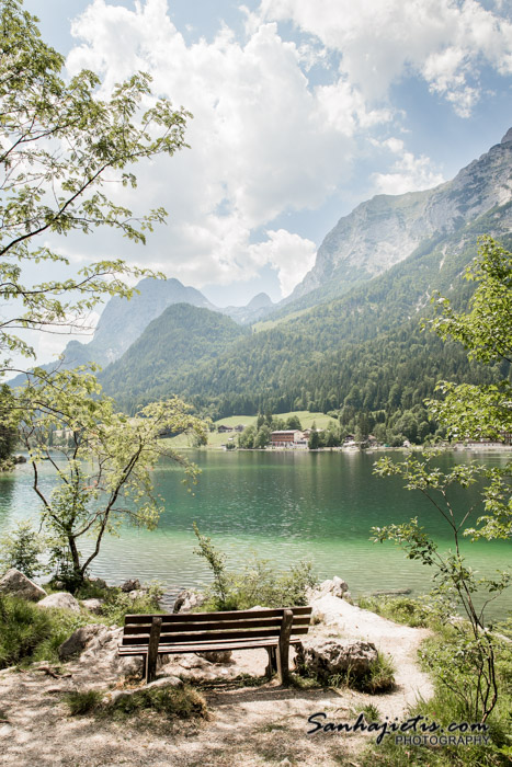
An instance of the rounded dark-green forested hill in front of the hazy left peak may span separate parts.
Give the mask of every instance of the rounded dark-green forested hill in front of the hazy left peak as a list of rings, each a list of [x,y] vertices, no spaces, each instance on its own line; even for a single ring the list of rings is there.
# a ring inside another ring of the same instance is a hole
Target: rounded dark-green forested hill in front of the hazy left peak
[[[217,311],[173,304],[150,322],[116,362],[100,374],[106,393],[121,405],[137,408],[181,390],[184,376],[213,363],[250,331]]]

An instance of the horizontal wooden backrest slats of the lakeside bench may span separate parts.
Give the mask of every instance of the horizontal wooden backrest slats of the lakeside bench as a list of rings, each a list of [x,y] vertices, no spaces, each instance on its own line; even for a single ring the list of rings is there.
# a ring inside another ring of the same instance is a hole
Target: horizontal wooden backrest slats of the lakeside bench
[[[308,632],[310,607],[289,607],[294,618],[292,640]],[[236,610],[230,613],[186,613],[159,615],[162,619],[160,644],[193,644],[227,640],[259,640],[278,637],[285,608],[264,610]],[[149,642],[152,615],[125,617],[123,646],[145,645]]]

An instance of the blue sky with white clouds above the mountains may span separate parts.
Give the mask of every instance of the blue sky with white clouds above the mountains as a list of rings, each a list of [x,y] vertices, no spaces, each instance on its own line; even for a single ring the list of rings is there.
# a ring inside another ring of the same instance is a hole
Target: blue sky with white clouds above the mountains
[[[106,232],[60,251],[161,270],[217,306],[289,295],[341,216],[450,180],[512,126],[509,0],[24,4],[69,76],[94,70],[107,96],[143,70],[193,114],[189,149],[112,192],[169,211],[146,247]]]

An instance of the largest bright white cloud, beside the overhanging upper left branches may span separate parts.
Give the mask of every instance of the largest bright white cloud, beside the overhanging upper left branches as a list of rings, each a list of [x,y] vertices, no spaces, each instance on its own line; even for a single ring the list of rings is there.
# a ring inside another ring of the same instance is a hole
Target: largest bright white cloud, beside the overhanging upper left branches
[[[280,230],[276,239],[270,234],[270,244],[251,250],[251,232],[273,231],[272,221],[286,211],[319,207],[350,178],[357,134],[387,122],[390,112],[372,110],[360,90],[342,80],[312,88],[304,60],[321,58],[321,49],[314,54],[286,42],[276,23],[251,14],[243,44],[224,27],[209,43],[187,45],[166,0],[136,3],[135,11],[94,0],[72,28],[81,43],[68,57],[70,73],[100,72],[107,94],[133,71],[149,71],[155,93],[194,115],[186,131],[191,149],[136,169],[138,197],[147,207],[163,205],[170,218],[151,236],[147,254],[134,250],[130,260],[149,257],[169,275],[201,287],[249,278],[266,254],[283,289],[291,290],[303,271],[281,264],[280,253],[292,257],[286,249],[300,238]],[[129,191],[116,194],[133,205]],[[105,255],[112,255],[113,242],[102,238]],[[301,242],[307,245],[298,253],[306,257],[314,244]],[[126,253],[130,245],[121,254]]]

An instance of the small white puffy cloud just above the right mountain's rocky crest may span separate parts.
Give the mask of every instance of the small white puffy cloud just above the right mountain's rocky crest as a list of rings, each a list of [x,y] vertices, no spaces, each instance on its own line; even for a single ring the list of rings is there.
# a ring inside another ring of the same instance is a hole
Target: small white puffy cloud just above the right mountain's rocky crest
[[[375,194],[403,194],[429,190],[443,183],[443,175],[435,172],[431,160],[424,154],[414,157],[406,150],[401,139],[391,137],[383,141],[382,146],[399,157],[389,173],[372,174]]]

